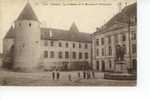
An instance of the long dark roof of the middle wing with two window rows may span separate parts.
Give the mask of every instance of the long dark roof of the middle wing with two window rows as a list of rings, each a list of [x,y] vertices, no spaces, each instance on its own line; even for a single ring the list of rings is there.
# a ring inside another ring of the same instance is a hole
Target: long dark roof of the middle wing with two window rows
[[[52,37],[50,37],[49,32],[52,32]],[[76,42],[91,42],[92,38],[89,33],[71,33],[70,30],[61,30],[54,28],[41,28],[41,39],[43,40],[66,40],[66,41],[76,41]]]

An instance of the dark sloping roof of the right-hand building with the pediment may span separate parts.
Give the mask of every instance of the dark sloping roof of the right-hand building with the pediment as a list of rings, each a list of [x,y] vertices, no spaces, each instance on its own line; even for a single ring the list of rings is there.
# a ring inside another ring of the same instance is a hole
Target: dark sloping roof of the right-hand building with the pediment
[[[120,26],[121,28],[123,26],[126,27],[127,23],[129,23],[129,18],[132,18],[133,16],[136,17],[137,14],[136,8],[137,8],[137,3],[133,3],[131,5],[126,6],[121,12],[119,12],[114,17],[112,17],[94,34],[106,33],[107,31],[116,30]],[[116,27],[112,29],[113,25],[116,25]]]

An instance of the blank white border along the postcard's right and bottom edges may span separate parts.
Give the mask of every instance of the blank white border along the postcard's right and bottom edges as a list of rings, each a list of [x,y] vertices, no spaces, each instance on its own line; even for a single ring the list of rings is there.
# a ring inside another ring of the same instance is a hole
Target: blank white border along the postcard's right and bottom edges
[[[0,100],[150,100],[150,0],[138,0],[137,87],[0,87]]]

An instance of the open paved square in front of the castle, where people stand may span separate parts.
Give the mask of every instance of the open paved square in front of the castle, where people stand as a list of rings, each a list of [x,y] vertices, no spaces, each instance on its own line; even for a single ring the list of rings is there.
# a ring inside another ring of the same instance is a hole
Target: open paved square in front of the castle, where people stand
[[[0,71],[0,85],[5,86],[134,86],[136,81],[105,80],[104,73],[96,72],[96,78],[78,78],[78,72],[60,72],[59,80],[52,80],[51,72],[21,73]],[[72,81],[68,80],[68,75]],[[81,74],[82,77],[82,74]]]

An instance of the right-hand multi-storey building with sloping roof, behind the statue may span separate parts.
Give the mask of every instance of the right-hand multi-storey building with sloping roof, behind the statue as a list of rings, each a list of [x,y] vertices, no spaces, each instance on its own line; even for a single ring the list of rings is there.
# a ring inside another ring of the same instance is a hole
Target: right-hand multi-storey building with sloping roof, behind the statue
[[[93,34],[93,69],[136,71],[136,5],[126,6]]]

